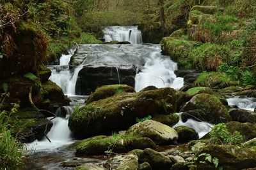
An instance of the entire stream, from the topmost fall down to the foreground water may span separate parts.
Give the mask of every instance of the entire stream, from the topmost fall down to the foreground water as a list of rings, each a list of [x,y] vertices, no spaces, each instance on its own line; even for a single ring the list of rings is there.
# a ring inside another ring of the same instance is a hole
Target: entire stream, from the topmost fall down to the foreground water
[[[49,143],[45,138],[42,141],[36,140],[27,144],[29,163],[26,169],[72,169],[60,165],[62,162],[103,164],[108,159],[103,156],[76,157],[74,155],[75,150],[68,148],[68,145],[76,141],[72,138],[68,128],[68,118],[72,114],[74,106],[77,104],[83,106],[88,97],[88,94],[77,88],[79,87],[77,86],[79,72],[84,67],[110,66],[111,69],[108,74],[112,76],[113,72],[117,73],[118,81],[116,83],[120,83],[122,80],[120,70],[123,67],[136,67],[134,87],[137,92],[148,85],[154,85],[157,88],[172,87],[175,90],[183,86],[183,78],[174,74],[174,71],[178,69],[177,63],[173,62],[169,56],[161,54],[160,45],[143,44],[138,27],[106,27],[103,31],[106,41],[129,41],[131,44],[79,45],[78,50],[71,49],[68,55],[62,55],[59,65],[48,66],[52,71],[49,79],[61,87],[64,94],[71,99],[71,103],[70,106],[65,106],[68,113],[65,118],[57,117],[52,120],[52,129],[47,134],[52,143]],[[70,67],[72,56],[74,56],[77,64]],[[239,108],[246,108],[250,104],[253,104],[252,108],[255,107],[256,103],[252,103],[253,99],[244,99],[245,101],[238,101],[237,99],[236,97],[230,98],[228,103],[237,105]],[[180,120],[177,125],[192,127],[200,137],[211,131],[211,128],[204,123],[192,119],[186,123]]]

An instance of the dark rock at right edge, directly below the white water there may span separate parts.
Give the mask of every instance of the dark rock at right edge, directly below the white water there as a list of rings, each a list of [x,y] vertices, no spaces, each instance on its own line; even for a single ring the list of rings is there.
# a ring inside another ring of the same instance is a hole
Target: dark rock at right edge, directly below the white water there
[[[250,122],[256,123],[256,113],[254,111],[243,110],[243,109],[230,109],[228,111],[232,120],[237,122]]]

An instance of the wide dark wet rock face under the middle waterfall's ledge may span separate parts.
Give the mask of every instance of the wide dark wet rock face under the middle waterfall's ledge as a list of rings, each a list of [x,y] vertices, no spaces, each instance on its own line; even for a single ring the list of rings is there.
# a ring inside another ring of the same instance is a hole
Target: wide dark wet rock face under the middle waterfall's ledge
[[[124,84],[134,87],[136,66],[134,64],[86,65],[78,73],[76,94],[88,95],[102,85]]]

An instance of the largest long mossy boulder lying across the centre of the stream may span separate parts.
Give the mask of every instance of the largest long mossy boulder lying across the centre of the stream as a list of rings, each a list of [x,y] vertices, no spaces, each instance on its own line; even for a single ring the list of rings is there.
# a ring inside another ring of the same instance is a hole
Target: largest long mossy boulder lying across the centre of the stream
[[[111,134],[136,124],[136,117],[173,113],[176,107],[176,92],[171,88],[118,93],[75,110],[68,126],[78,138]]]

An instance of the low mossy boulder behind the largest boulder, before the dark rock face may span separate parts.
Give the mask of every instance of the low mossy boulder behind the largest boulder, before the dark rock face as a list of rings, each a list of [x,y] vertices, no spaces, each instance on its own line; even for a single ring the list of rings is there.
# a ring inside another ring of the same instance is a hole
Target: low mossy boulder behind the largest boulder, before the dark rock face
[[[86,104],[92,103],[93,101],[98,101],[100,99],[106,99],[107,97],[113,96],[122,92],[136,92],[129,85],[104,85],[97,89],[93,94],[91,94]]]

